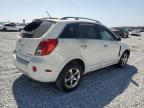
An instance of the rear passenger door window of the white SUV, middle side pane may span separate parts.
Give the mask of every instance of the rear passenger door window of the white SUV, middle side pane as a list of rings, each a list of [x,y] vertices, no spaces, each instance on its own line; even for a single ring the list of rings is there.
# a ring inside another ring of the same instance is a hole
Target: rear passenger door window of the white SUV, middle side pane
[[[83,39],[100,39],[99,30],[93,24],[80,24],[79,33]]]

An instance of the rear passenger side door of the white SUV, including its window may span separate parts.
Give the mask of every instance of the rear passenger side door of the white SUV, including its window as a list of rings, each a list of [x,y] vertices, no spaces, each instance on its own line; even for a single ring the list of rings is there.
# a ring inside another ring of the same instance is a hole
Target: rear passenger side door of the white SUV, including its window
[[[100,66],[102,57],[102,43],[100,34],[95,24],[80,23],[79,35],[81,42],[81,55],[86,61],[88,71],[94,70]]]

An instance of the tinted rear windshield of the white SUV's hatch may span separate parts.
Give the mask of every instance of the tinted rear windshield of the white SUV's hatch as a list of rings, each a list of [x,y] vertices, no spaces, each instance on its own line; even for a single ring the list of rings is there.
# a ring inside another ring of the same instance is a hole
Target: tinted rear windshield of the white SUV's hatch
[[[54,24],[54,22],[34,21],[24,27],[24,29],[20,33],[20,36],[22,36],[23,38],[40,38],[50,29],[52,24]]]

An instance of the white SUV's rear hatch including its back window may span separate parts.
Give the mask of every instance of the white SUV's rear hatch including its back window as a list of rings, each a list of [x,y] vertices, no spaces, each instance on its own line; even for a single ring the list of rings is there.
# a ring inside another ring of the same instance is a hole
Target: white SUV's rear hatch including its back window
[[[42,40],[42,36],[53,24],[54,22],[52,21],[34,20],[25,26],[16,42],[16,53],[29,60],[35,54],[37,46]]]

